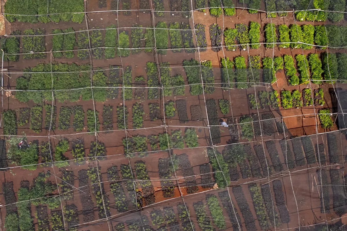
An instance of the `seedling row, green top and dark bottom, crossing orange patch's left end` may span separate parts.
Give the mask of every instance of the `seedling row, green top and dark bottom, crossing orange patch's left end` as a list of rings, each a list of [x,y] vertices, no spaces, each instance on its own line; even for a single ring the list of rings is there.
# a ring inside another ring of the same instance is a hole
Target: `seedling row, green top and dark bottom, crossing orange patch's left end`
[[[144,161],[138,160],[135,162],[136,178],[141,180],[140,186],[144,197],[145,205],[151,205],[155,202],[154,188],[147,174],[147,168]]]

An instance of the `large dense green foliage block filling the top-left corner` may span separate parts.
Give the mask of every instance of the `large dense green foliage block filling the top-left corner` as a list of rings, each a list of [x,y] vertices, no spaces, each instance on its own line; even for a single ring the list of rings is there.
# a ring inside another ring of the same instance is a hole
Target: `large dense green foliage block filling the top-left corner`
[[[64,7],[63,7],[64,6]],[[48,11],[47,11],[48,10]],[[58,13],[81,12],[81,14],[58,14]],[[28,23],[49,23],[53,21],[73,21],[82,23],[84,19],[84,2],[83,0],[52,1],[47,9],[47,2],[43,0],[9,0],[5,4],[5,17],[9,22],[21,21]],[[46,15],[46,14],[56,15]],[[24,16],[29,15],[29,16]],[[36,16],[41,15],[41,16]]]

